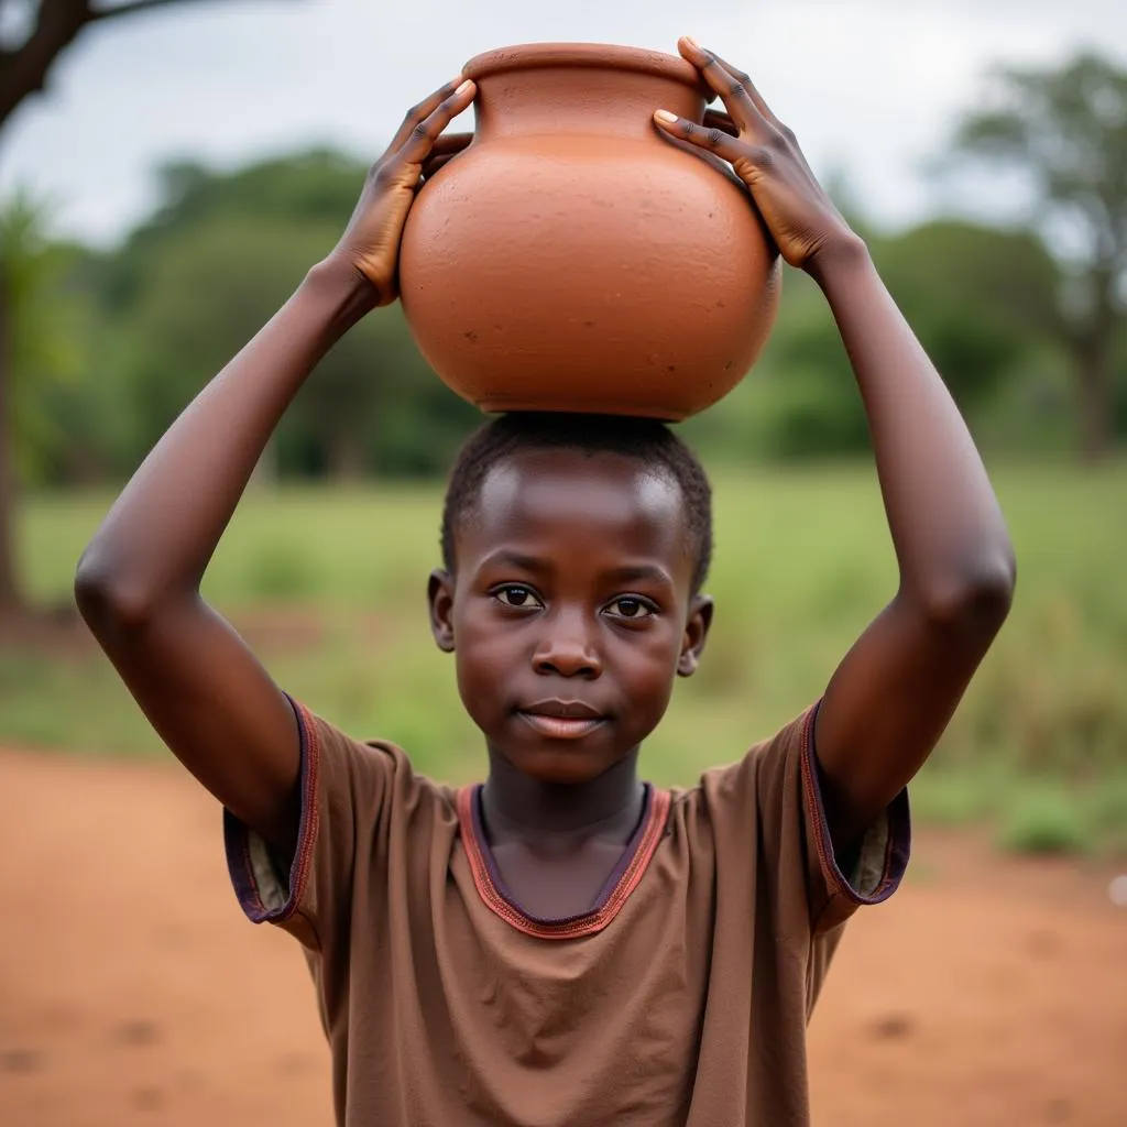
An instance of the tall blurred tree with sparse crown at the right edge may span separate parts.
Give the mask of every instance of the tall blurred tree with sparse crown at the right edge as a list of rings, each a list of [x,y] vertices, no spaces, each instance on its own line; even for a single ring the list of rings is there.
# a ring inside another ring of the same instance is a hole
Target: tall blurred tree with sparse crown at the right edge
[[[1028,178],[1030,219],[1073,272],[1047,323],[1073,360],[1081,451],[1101,458],[1113,435],[1127,300],[1127,72],[1093,54],[1055,70],[1000,70],[955,150]]]

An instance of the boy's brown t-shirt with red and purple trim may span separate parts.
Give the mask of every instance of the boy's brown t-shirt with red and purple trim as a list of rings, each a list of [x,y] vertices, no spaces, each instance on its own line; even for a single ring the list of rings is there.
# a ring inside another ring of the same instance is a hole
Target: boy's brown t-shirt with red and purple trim
[[[247,915],[307,949],[338,1124],[808,1122],[806,1023],[841,925],[908,852],[902,795],[838,871],[814,709],[692,789],[648,788],[598,902],[552,921],[505,889],[477,788],[296,710],[289,887],[230,814],[228,862]]]

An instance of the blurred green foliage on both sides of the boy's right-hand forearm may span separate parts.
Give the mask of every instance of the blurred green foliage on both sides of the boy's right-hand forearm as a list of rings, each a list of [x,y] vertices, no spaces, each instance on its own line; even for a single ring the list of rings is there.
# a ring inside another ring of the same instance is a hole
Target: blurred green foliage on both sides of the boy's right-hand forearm
[[[956,220],[869,233],[873,259],[971,423],[1020,372],[1037,374],[1056,317],[1059,270],[1036,236]],[[689,433],[779,459],[868,446],[868,424],[841,334],[814,283],[788,272],[786,299],[747,391]],[[743,418],[740,399],[746,403]]]

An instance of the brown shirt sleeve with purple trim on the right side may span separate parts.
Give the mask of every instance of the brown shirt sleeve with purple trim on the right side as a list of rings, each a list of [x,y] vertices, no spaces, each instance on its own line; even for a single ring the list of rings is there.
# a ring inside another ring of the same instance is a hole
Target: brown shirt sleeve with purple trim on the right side
[[[814,748],[815,704],[744,760],[706,783],[710,806],[725,820],[752,824],[754,853],[780,921],[808,921],[814,935],[844,923],[858,907],[888,899],[899,886],[911,851],[907,791],[880,814],[849,859],[834,853]],[[746,832],[746,831],[745,831]],[[731,835],[726,835],[733,840]],[[789,929],[788,929],[789,930]]]

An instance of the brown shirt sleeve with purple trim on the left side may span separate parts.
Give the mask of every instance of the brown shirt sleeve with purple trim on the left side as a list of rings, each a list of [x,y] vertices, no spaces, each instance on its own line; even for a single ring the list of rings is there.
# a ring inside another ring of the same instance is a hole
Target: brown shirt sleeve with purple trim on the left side
[[[350,899],[357,855],[388,817],[397,773],[408,771],[391,745],[362,744],[291,700],[301,739],[301,814],[293,859],[223,811],[228,871],[252,923],[272,923],[320,950]]]

